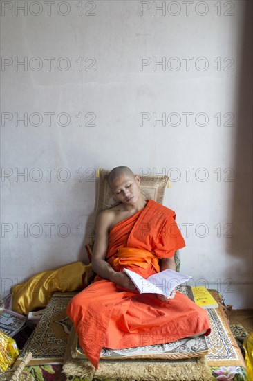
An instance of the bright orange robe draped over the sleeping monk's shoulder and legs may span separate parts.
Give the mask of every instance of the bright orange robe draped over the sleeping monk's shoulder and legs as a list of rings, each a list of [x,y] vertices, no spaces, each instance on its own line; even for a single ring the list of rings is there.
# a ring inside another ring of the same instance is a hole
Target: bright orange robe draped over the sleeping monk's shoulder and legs
[[[143,278],[156,274],[160,270],[158,259],[171,258],[177,249],[185,247],[175,218],[171,209],[147,200],[144,209],[113,226],[106,260],[115,271],[127,268]],[[136,248],[136,258],[134,249],[122,248]],[[210,333],[207,312],[180,292],[164,302],[156,294],[122,289],[98,275],[71,299],[66,312],[75,325],[79,344],[96,369],[102,347],[147,346],[174,342],[204,330],[206,335]]]

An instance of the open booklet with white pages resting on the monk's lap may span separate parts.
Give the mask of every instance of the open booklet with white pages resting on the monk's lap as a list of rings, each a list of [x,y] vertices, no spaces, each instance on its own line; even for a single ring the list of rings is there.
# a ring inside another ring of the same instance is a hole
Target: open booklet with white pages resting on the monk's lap
[[[153,274],[147,279],[142,278],[142,276],[129,269],[124,269],[124,272],[126,272],[129,278],[131,278],[135,286],[140,291],[140,294],[149,293],[169,296],[174,288],[192,278],[192,276],[182,274],[171,269]]]

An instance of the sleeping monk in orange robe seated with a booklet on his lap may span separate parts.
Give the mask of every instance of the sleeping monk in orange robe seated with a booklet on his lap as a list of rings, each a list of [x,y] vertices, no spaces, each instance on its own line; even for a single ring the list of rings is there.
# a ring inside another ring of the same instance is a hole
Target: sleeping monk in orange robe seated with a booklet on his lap
[[[113,168],[108,181],[120,204],[97,217],[92,258],[97,275],[66,308],[79,344],[96,369],[102,347],[150,346],[210,333],[207,312],[187,296],[177,291],[168,297],[140,294],[123,272],[131,269],[148,278],[176,270],[174,254],[185,247],[185,240],[175,212],[145,200],[140,177],[128,167]]]

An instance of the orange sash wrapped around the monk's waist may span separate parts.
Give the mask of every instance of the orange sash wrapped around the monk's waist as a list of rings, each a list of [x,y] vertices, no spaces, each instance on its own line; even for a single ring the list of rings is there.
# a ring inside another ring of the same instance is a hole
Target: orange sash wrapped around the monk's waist
[[[148,250],[135,247],[120,247],[112,259],[113,266],[133,266],[147,269],[151,263],[156,272],[160,272],[158,257]]]

